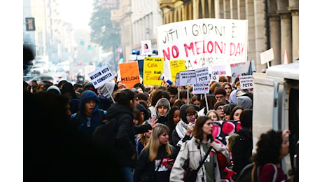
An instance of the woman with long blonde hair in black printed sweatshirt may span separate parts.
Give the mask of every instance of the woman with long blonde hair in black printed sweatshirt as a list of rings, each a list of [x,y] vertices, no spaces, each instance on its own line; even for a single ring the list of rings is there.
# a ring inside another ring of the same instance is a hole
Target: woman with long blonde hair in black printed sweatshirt
[[[169,181],[175,157],[174,147],[169,144],[169,127],[158,123],[141,151],[134,181]]]

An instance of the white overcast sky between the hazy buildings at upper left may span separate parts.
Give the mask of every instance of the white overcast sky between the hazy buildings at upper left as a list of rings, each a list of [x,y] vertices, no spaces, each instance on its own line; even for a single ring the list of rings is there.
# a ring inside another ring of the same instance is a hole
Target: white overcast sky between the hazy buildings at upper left
[[[90,29],[88,23],[93,0],[58,0],[59,17],[73,25],[73,29]]]

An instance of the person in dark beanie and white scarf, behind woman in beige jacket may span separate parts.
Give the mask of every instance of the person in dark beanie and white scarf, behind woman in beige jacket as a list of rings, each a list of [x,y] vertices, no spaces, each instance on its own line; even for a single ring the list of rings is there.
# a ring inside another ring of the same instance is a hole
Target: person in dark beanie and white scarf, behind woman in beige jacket
[[[181,145],[193,137],[193,126],[197,119],[198,106],[184,104],[180,107],[181,120],[176,124],[174,132],[172,132],[172,142],[176,149],[180,149]]]

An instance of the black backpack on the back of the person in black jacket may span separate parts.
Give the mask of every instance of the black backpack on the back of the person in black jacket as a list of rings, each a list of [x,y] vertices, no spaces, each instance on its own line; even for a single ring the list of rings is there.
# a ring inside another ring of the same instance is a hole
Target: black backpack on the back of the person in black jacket
[[[104,120],[92,134],[92,142],[97,148],[113,153],[115,149],[116,134],[118,132],[118,119]]]

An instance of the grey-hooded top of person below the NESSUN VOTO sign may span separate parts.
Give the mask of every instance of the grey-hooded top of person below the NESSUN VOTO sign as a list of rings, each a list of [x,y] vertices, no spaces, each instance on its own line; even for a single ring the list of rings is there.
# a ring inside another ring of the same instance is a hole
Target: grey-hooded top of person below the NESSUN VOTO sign
[[[113,103],[111,94],[114,91],[115,83],[105,83],[99,87],[99,109],[107,110]]]

